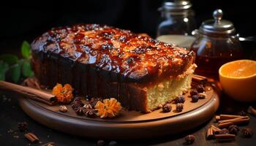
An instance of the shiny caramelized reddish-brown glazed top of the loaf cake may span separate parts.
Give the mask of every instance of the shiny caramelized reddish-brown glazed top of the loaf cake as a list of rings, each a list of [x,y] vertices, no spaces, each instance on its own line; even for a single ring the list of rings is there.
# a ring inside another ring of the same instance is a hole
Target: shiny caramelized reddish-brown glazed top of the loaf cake
[[[34,52],[57,53],[138,81],[148,77],[175,77],[195,60],[195,53],[182,47],[97,24],[52,28],[37,37],[31,48]]]

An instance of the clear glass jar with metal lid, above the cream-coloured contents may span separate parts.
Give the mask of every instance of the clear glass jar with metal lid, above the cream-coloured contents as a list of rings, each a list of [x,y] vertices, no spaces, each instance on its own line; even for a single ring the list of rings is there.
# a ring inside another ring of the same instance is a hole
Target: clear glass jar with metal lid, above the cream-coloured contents
[[[165,34],[190,35],[196,28],[190,1],[165,1],[159,11],[162,21],[157,28],[157,37]]]

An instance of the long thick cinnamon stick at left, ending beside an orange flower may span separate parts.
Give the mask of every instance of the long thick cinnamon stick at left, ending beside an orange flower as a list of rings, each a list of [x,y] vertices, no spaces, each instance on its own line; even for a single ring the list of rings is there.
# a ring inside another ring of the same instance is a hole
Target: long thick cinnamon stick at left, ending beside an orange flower
[[[46,93],[44,91],[39,91],[34,88],[24,87],[22,85],[13,84],[11,82],[0,81],[0,89],[4,89],[7,91],[13,91],[15,93],[19,93],[29,99],[34,99],[37,101],[41,101],[45,104],[53,105],[56,103],[57,99],[51,93]]]

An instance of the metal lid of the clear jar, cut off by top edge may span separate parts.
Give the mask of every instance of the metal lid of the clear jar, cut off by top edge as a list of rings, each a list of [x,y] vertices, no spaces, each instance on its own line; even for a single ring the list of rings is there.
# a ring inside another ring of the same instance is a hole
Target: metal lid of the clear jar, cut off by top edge
[[[165,1],[159,11],[181,11],[192,7],[190,1]]]

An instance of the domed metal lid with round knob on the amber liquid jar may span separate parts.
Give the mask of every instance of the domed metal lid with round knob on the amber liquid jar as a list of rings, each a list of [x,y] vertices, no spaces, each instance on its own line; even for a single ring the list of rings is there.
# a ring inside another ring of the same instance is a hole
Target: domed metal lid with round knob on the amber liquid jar
[[[229,20],[222,20],[223,12],[222,9],[216,9],[213,13],[214,20],[206,20],[202,23],[199,28],[199,32],[206,35],[211,34],[222,34],[232,35],[235,34],[236,30],[233,23]]]

